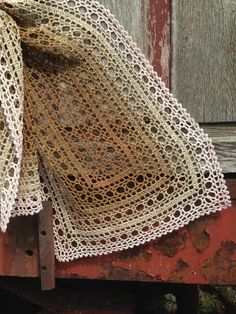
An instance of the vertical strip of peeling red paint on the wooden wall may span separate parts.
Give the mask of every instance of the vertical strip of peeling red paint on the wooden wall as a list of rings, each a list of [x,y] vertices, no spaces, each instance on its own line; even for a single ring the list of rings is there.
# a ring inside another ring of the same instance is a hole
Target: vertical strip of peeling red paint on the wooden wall
[[[170,87],[170,0],[148,1],[148,56],[158,75]]]

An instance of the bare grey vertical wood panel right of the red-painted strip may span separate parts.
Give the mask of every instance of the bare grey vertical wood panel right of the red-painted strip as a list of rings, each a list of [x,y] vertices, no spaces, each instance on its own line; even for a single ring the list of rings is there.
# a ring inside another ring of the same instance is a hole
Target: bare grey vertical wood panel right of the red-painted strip
[[[173,93],[199,122],[236,120],[236,1],[173,0]]]

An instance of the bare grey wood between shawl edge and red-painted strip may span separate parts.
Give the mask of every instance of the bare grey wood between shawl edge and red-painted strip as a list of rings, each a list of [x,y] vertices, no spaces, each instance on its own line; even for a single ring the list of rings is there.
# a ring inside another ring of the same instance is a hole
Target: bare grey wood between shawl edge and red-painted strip
[[[147,0],[99,0],[148,55]]]

